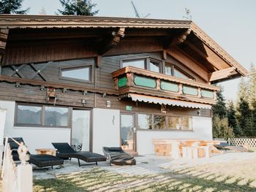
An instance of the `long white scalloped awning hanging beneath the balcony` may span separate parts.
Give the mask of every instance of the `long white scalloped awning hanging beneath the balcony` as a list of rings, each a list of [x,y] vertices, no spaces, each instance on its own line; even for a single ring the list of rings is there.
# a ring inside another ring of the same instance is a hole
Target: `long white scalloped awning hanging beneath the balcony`
[[[176,99],[165,99],[159,98],[155,96],[144,96],[135,93],[129,93],[128,97],[132,98],[132,101],[143,101],[146,103],[154,103],[154,104],[167,104],[171,106],[179,106],[179,107],[189,107],[189,108],[202,108],[211,110],[210,104],[198,104],[190,101],[178,101]]]

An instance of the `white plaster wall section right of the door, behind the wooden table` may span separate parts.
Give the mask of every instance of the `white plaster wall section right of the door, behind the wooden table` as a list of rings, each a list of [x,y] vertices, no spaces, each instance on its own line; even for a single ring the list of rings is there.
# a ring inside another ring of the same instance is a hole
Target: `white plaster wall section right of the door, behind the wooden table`
[[[212,139],[211,118],[193,117],[193,131],[137,131],[138,154],[154,153],[152,139]]]

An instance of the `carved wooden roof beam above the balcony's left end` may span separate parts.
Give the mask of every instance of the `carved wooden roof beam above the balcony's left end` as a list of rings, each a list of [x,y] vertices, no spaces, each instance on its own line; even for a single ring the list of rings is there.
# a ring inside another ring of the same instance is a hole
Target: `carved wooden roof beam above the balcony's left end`
[[[120,42],[120,39],[124,37],[125,28],[119,28],[118,31],[112,32],[112,37],[110,39],[104,40],[104,42],[100,43],[103,45],[99,48],[98,53],[99,55],[103,55],[104,53],[108,52],[108,50],[112,49]]]

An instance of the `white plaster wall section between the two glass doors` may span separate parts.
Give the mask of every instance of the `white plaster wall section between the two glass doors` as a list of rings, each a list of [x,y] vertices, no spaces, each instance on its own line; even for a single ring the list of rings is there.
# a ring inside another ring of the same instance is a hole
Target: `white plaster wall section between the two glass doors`
[[[94,153],[102,152],[102,147],[120,146],[120,111],[94,108],[93,110]]]

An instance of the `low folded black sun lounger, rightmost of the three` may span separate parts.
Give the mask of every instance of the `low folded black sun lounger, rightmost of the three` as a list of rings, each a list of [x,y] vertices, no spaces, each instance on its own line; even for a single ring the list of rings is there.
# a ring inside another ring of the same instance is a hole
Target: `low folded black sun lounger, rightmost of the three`
[[[124,152],[121,147],[103,147],[103,153],[115,165],[135,165],[136,160],[129,153]]]

